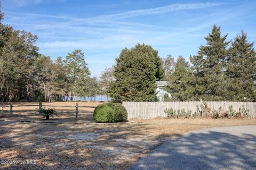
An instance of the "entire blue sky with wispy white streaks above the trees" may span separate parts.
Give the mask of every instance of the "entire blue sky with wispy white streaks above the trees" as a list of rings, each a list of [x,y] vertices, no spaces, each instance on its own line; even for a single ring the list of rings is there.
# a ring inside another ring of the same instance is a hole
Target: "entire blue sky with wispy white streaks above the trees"
[[[214,23],[228,39],[243,29],[256,40],[256,1],[2,0],[2,7],[3,23],[37,35],[40,53],[55,60],[82,49],[97,77],[137,43],[189,59]]]

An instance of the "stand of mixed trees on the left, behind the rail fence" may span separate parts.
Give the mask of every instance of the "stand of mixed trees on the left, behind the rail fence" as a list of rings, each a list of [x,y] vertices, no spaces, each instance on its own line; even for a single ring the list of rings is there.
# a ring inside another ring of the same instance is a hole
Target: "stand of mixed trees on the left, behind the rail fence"
[[[91,77],[80,49],[52,61],[38,52],[37,36],[3,24],[3,17],[0,11],[0,103],[66,101],[73,96],[95,101],[95,95],[106,94],[105,79],[111,69],[99,80]]]

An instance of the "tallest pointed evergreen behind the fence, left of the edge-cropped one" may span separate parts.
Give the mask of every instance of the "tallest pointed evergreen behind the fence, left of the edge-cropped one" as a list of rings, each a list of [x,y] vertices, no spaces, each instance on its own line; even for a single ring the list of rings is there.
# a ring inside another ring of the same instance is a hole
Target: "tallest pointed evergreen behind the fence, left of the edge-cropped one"
[[[228,56],[227,35],[222,36],[220,27],[213,25],[211,33],[201,45],[197,55],[190,56],[195,75],[195,97],[204,100],[224,100],[227,95],[225,88],[225,61]]]

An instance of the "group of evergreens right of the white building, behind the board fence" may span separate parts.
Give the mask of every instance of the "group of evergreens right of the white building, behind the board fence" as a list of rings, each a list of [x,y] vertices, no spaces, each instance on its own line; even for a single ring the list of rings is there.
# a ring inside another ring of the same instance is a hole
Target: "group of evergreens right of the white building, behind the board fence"
[[[190,63],[179,57],[167,75],[174,100],[256,101],[256,53],[241,31],[233,40],[213,25]]]

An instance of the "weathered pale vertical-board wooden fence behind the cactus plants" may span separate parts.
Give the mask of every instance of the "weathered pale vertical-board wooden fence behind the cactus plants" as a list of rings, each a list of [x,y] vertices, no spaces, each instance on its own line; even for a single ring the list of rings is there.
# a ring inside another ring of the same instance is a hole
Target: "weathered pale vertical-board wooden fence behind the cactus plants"
[[[191,110],[192,113],[197,111],[196,106],[199,106],[201,101],[174,101],[174,102],[133,102],[124,101],[123,106],[128,113],[128,119],[148,119],[155,117],[166,117],[165,108]],[[234,111],[238,112],[239,107],[249,109],[251,117],[256,117],[255,102],[233,102],[233,101],[206,101],[208,107],[218,111],[221,107],[224,111],[228,111],[228,106],[233,106]]]

